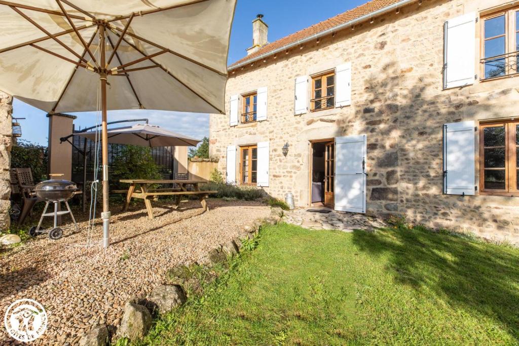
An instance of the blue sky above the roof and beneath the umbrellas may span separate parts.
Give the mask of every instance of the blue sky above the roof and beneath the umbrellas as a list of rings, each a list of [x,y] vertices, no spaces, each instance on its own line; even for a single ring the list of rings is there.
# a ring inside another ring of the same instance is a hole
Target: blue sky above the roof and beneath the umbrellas
[[[252,45],[252,20],[258,13],[265,17],[269,26],[268,40],[273,42],[307,26],[316,24],[365,3],[367,0],[238,0],[230,37],[228,63],[231,64],[246,54],[245,49]],[[47,145],[48,119],[46,113],[21,101],[13,103],[13,117],[20,120],[22,139]],[[75,113],[76,128],[95,124],[91,112]],[[148,118],[149,122],[168,130],[201,139],[209,135],[209,115],[165,112],[160,110],[118,110],[108,112],[108,121]]]

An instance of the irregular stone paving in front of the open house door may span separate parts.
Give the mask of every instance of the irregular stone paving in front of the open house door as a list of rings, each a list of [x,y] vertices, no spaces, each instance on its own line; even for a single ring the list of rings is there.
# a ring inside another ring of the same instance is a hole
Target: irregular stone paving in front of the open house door
[[[352,232],[354,229],[373,231],[379,227],[386,227],[387,224],[375,217],[364,214],[332,211],[330,213],[309,212],[304,208],[294,209],[285,212],[283,217],[286,223],[302,226],[309,229],[337,229],[343,232]]]

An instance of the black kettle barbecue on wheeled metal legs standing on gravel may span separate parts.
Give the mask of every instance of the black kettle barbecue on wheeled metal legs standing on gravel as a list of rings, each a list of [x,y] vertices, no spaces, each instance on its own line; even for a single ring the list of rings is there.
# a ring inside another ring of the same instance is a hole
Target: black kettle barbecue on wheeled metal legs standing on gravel
[[[57,226],[58,215],[69,213],[72,221],[74,222],[74,226],[76,227],[76,231],[78,230],[76,219],[70,210],[68,202],[68,200],[71,199],[77,191],[79,191],[75,183],[67,180],[46,180],[44,182],[38,183],[34,191],[36,192],[36,197],[38,197],[38,199],[44,200],[46,204],[42,213],[42,217],[39,219],[38,226],[33,226],[29,230],[31,237],[35,237],[40,233],[48,233],[49,239],[60,239],[63,236],[63,230]],[[61,202],[65,202],[67,209],[66,211],[58,211],[58,206],[61,204]],[[47,213],[47,208],[49,207],[50,203],[54,204],[54,212]],[[45,216],[54,217],[54,227],[50,230],[43,230],[40,228]]]

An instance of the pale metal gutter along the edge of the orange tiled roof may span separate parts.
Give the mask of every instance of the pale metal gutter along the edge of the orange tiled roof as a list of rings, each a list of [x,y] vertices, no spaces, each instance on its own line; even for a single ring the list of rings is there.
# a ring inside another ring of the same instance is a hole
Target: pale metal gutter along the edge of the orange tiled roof
[[[361,16],[359,18],[352,19],[352,20],[350,20],[350,21],[348,21],[346,23],[342,23],[342,24],[336,25],[334,27],[331,27],[330,29],[326,29],[326,30],[321,31],[321,32],[319,32],[317,34],[313,34],[311,36],[308,36],[308,37],[305,37],[303,39],[297,40],[295,42],[289,43],[288,45],[284,45],[282,47],[276,48],[276,49],[271,50],[269,52],[263,53],[263,54],[255,57],[255,58],[252,58],[250,60],[245,60],[245,61],[243,61],[243,62],[241,62],[239,64],[236,64],[236,65],[230,65],[229,67],[227,67],[227,71],[236,70],[236,68],[239,68],[239,67],[242,67],[244,65],[253,63],[255,61],[264,59],[264,58],[269,57],[269,56],[271,56],[273,54],[279,53],[279,52],[281,52],[283,50],[286,50],[286,49],[289,49],[289,48],[292,48],[292,47],[295,47],[295,46],[298,46],[298,45],[302,45],[302,44],[304,44],[304,43],[306,43],[306,42],[308,42],[308,41],[310,41],[312,39],[320,38],[320,37],[325,36],[327,34],[330,34],[332,32],[342,30],[342,29],[344,29],[347,26],[363,22],[363,21],[365,21],[367,19],[372,18],[373,16],[382,15],[382,14],[384,14],[384,13],[386,13],[386,12],[392,10],[392,9],[395,9],[395,8],[398,8],[398,7],[402,7],[402,6],[405,6],[405,5],[408,5],[408,4],[412,4],[412,3],[415,3],[415,2],[418,2],[418,1],[419,0],[400,0],[399,2],[394,3],[392,5],[380,8],[380,9],[378,9],[376,11],[367,13],[367,15],[363,15],[363,16]]]

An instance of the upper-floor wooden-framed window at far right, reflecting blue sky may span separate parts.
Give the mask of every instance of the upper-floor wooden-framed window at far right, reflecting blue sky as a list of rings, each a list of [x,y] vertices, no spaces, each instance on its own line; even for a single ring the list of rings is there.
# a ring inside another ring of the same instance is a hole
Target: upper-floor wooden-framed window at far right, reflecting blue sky
[[[482,17],[482,79],[498,78],[519,72],[519,7]]]

